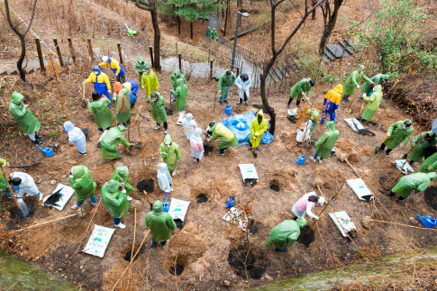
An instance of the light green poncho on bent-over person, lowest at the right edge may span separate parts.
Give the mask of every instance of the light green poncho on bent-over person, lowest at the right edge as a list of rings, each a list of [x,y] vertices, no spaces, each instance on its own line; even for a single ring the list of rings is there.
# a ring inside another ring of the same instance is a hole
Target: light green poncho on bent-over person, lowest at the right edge
[[[424,191],[430,185],[431,181],[435,181],[436,178],[437,174],[435,172],[414,173],[401,177],[391,191],[406,198],[410,196],[411,191],[413,190],[416,193]]]

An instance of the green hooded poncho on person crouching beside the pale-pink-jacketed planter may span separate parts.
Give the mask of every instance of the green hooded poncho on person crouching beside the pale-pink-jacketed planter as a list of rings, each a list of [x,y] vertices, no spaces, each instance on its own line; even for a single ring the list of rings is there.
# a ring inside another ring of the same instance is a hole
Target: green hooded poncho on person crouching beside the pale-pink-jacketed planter
[[[277,226],[273,227],[270,231],[269,239],[266,242],[266,247],[269,247],[273,243],[275,248],[282,249],[288,246],[292,247],[295,245],[297,238],[300,235],[300,229],[305,227],[306,220],[303,217],[294,220],[285,220],[279,223]]]

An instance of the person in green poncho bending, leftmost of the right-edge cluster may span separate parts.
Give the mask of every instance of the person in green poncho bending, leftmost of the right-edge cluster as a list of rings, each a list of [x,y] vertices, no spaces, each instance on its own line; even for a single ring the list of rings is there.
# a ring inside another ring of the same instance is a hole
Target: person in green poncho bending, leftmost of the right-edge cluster
[[[395,149],[399,144],[401,148],[408,144],[411,136],[413,135],[414,128],[411,121],[407,118],[405,121],[399,121],[390,125],[387,131],[386,140],[381,144],[379,150],[386,150],[386,156],[390,154],[390,151]]]

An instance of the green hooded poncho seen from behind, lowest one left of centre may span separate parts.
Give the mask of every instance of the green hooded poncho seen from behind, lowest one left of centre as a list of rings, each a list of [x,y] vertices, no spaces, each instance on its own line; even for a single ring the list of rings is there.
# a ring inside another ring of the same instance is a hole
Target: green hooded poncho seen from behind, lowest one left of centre
[[[168,241],[171,239],[171,230],[176,229],[176,223],[170,214],[163,212],[162,202],[153,203],[152,211],[146,214],[146,226],[155,241]]]

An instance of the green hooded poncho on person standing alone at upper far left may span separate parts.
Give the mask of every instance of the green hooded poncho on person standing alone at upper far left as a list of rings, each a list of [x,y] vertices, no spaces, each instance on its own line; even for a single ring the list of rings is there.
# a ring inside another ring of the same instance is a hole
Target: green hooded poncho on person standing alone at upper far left
[[[15,122],[18,123],[24,133],[38,132],[41,129],[41,123],[29,109],[24,108],[23,99],[23,95],[14,91],[9,103],[9,112],[13,115]]]

